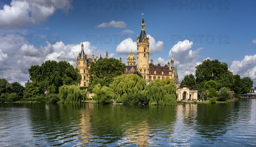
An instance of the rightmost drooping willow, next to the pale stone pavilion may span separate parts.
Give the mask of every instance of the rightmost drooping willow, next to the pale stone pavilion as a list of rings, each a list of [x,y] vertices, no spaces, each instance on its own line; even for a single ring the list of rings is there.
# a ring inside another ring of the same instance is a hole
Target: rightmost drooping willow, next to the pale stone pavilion
[[[170,78],[156,79],[145,86],[143,92],[145,103],[149,105],[172,105],[175,104],[176,85]]]

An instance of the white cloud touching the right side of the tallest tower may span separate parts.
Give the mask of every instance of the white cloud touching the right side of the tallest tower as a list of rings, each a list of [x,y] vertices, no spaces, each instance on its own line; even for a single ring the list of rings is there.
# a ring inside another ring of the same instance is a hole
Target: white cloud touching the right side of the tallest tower
[[[155,52],[163,51],[163,41],[157,41],[151,35],[147,35],[149,37],[149,54],[154,54]]]

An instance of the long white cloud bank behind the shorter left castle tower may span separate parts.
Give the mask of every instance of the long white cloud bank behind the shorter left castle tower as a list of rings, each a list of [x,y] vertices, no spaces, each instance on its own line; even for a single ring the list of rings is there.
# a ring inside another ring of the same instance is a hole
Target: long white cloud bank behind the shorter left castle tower
[[[91,57],[93,53],[98,52],[96,46],[91,46],[90,42],[83,42],[84,52]],[[74,67],[76,66],[76,59],[81,51],[81,44],[64,44],[62,41],[50,44],[47,42],[46,46],[35,47],[33,45],[24,44],[14,55],[18,66],[28,69],[31,65],[41,64],[47,60],[68,61]]]

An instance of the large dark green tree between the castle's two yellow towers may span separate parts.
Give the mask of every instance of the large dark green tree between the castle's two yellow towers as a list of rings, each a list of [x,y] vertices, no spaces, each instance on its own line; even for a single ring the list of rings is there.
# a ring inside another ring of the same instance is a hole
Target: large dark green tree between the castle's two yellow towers
[[[88,70],[90,75],[88,91],[92,92],[97,84],[109,86],[114,77],[125,72],[125,68],[124,63],[120,63],[119,60],[114,58],[100,58],[96,63],[91,63]]]

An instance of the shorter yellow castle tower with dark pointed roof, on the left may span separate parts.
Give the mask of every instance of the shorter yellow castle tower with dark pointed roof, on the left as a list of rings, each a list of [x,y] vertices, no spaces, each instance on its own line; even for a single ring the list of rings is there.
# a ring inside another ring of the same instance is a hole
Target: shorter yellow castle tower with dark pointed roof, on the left
[[[81,52],[77,57],[76,68],[78,69],[79,74],[81,75],[81,81],[79,86],[88,86],[89,77],[88,77],[88,65],[87,65],[87,55],[84,53],[84,45],[81,44]]]

